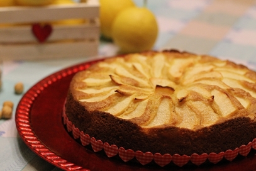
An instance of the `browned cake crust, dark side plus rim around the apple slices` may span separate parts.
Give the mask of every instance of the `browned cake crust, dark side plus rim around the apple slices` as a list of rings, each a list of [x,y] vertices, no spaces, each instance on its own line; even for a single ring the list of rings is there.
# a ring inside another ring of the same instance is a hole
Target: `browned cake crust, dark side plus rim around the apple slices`
[[[148,52],[155,54],[157,52]],[[177,51],[165,51],[167,55],[187,56],[191,53],[180,53]],[[213,57],[205,56],[202,60],[213,60]],[[243,65],[236,65],[233,62],[226,62],[226,66],[239,69],[247,69]],[[91,70],[97,70],[92,66]],[[249,70],[245,75],[255,80],[255,72]],[[86,86],[86,83],[80,80],[86,79],[86,72],[79,72],[75,75],[70,83],[70,89],[65,104],[67,118],[79,130],[88,134],[96,140],[108,142],[109,145],[123,146],[125,149],[134,151],[152,153],[170,153],[174,155],[191,155],[192,153],[219,153],[228,149],[234,150],[241,145],[247,145],[248,142],[256,138],[256,121],[255,121],[255,99],[247,92],[235,88],[232,93],[237,96],[246,96],[252,104],[248,109],[243,108],[242,104],[230,97],[231,101],[237,106],[236,114],[228,118],[220,118],[214,124],[209,126],[199,126],[197,128],[181,128],[172,124],[162,124],[159,126],[147,127],[140,126],[132,119],[122,119],[105,111],[93,110],[97,108],[97,103],[90,103],[95,106],[88,106],[87,102],[79,101],[79,97],[84,96],[77,89]],[[77,83],[78,82],[78,83]],[[245,87],[255,91],[255,85],[244,81]],[[191,95],[192,96],[192,95]],[[117,97],[116,97],[117,98]],[[213,98],[214,99],[214,98]],[[112,99],[115,101],[116,99]],[[188,99],[184,100],[185,102]],[[183,102],[184,102],[183,101]],[[211,100],[209,100],[211,101]],[[109,100],[111,103],[111,100]],[[108,104],[106,104],[108,105]],[[248,114],[249,113],[249,114]]]

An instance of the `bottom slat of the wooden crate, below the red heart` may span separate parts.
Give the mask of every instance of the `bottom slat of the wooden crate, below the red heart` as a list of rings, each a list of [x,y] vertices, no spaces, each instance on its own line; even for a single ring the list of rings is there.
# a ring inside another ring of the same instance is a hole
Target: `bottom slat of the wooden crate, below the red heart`
[[[3,60],[91,57],[97,55],[98,41],[0,45]]]

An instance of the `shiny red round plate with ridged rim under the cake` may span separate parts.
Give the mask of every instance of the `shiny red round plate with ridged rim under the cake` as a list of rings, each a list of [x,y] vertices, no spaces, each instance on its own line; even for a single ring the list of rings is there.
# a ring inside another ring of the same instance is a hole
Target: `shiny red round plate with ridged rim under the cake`
[[[256,168],[255,151],[233,162],[214,165],[140,165],[108,158],[82,146],[67,133],[62,123],[62,108],[73,75],[87,69],[94,62],[81,63],[60,70],[35,84],[22,97],[16,109],[16,127],[26,145],[47,162],[63,170],[253,170]]]

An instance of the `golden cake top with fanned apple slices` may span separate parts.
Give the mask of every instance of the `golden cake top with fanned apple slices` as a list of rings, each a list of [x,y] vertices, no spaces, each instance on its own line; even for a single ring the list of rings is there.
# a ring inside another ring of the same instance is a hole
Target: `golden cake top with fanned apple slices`
[[[168,51],[108,58],[77,73],[71,86],[87,111],[144,128],[197,130],[239,116],[254,119],[255,82],[255,72],[243,65]]]

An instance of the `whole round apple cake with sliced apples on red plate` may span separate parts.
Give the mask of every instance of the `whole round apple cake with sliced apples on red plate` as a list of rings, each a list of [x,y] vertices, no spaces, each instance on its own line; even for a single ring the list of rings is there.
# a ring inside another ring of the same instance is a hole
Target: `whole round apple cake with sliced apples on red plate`
[[[164,155],[220,153],[256,138],[256,72],[177,50],[106,58],[70,82],[67,118],[96,140]]]

